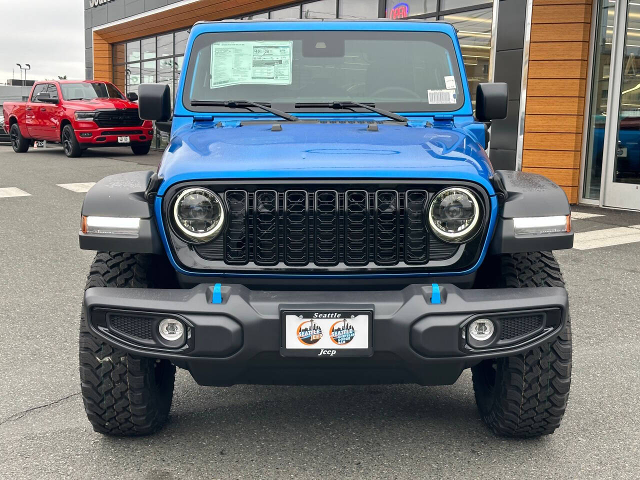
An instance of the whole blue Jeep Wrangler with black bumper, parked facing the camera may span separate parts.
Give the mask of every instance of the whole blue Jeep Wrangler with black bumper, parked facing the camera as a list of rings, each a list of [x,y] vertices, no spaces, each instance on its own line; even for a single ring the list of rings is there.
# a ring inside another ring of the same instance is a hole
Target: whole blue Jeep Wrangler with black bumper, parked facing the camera
[[[472,370],[499,435],[560,424],[571,329],[551,250],[570,207],[494,171],[456,31],[441,22],[224,21],[191,30],[157,172],[100,180],[80,246],[80,374],[96,431],[144,435],[175,367],[200,385],[449,385]],[[474,118],[475,115],[475,118]]]

